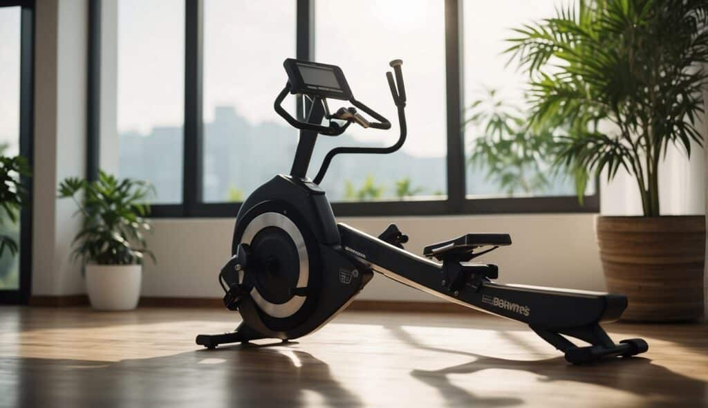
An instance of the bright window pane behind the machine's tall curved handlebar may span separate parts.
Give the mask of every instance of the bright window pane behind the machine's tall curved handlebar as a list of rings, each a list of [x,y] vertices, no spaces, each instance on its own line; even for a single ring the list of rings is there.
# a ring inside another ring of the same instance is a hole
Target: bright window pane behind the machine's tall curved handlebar
[[[343,12],[346,11],[346,12]],[[314,176],[335,146],[392,145],[399,136],[396,106],[385,72],[400,58],[408,104],[408,139],[394,154],[333,159],[322,183],[331,200],[445,199],[445,17],[438,0],[320,0],[315,9],[315,60],[343,69],[358,100],[382,113],[392,130],[351,125],[340,137],[321,137]],[[332,101],[336,110],[341,104]]]

